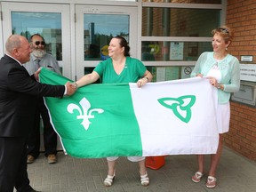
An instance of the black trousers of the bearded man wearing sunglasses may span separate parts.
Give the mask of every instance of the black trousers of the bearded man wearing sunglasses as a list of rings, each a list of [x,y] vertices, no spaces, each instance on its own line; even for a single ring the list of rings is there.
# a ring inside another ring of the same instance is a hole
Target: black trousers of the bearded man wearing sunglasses
[[[40,153],[40,115],[44,124],[44,156],[57,154],[57,134],[52,128],[48,110],[44,105],[44,99],[40,98],[37,102],[35,126],[28,136],[28,155],[37,157]]]

